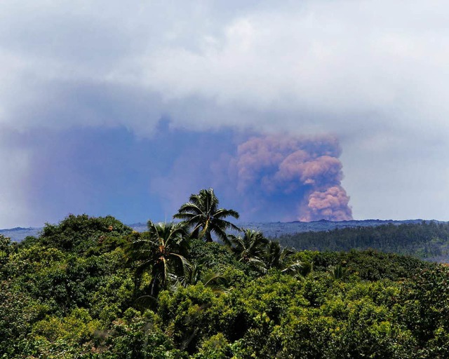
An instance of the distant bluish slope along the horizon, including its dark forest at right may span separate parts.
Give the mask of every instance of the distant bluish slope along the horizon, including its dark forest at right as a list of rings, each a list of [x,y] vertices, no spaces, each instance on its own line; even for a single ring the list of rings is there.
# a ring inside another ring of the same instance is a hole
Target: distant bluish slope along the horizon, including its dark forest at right
[[[363,221],[330,222],[238,222],[238,226],[262,231],[264,236],[297,250],[348,251],[352,248],[373,248],[449,262],[448,222],[409,219],[404,221],[366,219]],[[424,224],[424,226],[422,225]],[[429,226],[432,224],[431,226]],[[435,224],[435,226],[433,225]],[[135,231],[146,231],[145,223],[130,224]],[[436,229],[435,229],[436,228]],[[441,229],[441,230],[438,230]],[[444,230],[443,230],[444,229]],[[39,236],[41,228],[0,229],[0,234],[13,241]]]

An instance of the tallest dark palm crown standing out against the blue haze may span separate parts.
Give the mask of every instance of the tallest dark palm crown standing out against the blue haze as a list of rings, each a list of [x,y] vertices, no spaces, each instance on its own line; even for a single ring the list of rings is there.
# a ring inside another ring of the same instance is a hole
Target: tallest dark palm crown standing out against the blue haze
[[[173,218],[182,219],[192,229],[192,237],[204,238],[206,242],[212,242],[212,233],[222,241],[226,241],[226,230],[239,227],[225,220],[226,217],[239,218],[235,210],[218,208],[218,198],[213,189],[201,189],[199,194],[192,194],[189,202],[178,210]]]

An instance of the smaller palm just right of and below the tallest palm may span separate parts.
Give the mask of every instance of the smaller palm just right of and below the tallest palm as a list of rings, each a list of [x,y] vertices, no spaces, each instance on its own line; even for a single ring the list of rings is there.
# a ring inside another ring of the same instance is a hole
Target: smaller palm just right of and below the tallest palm
[[[260,231],[246,229],[243,236],[229,235],[224,241],[226,245],[232,248],[232,251],[239,257],[240,262],[249,262],[257,267],[264,267],[262,257],[265,247],[268,244]]]

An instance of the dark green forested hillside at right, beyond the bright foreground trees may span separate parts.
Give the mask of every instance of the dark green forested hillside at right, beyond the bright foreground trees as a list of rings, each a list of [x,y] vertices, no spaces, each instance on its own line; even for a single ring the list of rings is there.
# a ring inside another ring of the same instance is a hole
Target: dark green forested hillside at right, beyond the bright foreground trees
[[[296,250],[349,251],[372,248],[438,262],[449,261],[449,223],[417,222],[283,234],[281,245]]]

